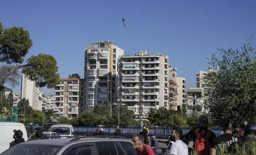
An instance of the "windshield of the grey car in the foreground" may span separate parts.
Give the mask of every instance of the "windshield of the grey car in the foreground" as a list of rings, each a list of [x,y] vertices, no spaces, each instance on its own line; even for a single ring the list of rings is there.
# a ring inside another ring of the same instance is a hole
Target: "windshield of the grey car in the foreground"
[[[1,155],[54,155],[60,147],[40,144],[19,144],[4,151]]]

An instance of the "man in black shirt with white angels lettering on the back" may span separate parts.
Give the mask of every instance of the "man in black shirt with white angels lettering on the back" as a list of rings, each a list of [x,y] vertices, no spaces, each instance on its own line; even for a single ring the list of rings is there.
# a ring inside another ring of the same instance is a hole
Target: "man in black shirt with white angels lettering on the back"
[[[215,149],[211,151],[211,155],[216,154],[217,147],[225,147],[231,153],[235,153],[235,145],[242,145],[242,139],[239,136],[235,136],[232,134],[232,124],[230,122],[226,122],[223,127],[224,134],[217,136],[214,138]]]

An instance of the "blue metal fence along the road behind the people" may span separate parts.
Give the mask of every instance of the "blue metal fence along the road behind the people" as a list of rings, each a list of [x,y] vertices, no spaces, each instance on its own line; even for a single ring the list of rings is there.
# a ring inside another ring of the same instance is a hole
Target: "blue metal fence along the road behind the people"
[[[103,128],[105,133],[113,133],[116,132],[115,127],[83,127],[83,126],[74,126],[75,132],[95,132],[96,129]],[[120,127],[123,134],[138,134],[142,131],[140,127]],[[187,134],[191,128],[181,128],[183,134]],[[212,132],[219,136],[223,133],[222,129],[212,128],[210,129]],[[158,136],[169,136],[172,129],[170,128],[149,128],[149,133],[155,133]]]

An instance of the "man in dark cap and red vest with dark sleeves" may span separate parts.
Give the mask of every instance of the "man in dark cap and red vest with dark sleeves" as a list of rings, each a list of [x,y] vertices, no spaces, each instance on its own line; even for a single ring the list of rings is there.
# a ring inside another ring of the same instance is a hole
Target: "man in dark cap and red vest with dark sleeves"
[[[208,129],[208,118],[202,116],[199,118],[198,127],[190,130],[186,135],[182,136],[182,141],[187,145],[190,141],[194,142],[194,149],[198,155],[210,155],[214,151],[215,133]]]

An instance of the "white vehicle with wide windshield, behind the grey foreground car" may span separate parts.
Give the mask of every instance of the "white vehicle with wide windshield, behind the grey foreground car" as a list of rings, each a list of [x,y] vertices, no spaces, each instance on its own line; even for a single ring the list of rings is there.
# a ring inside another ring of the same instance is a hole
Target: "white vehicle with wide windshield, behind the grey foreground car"
[[[56,124],[50,127],[49,132],[56,132],[63,138],[66,138],[65,136],[73,136],[74,128],[69,124]]]

